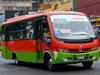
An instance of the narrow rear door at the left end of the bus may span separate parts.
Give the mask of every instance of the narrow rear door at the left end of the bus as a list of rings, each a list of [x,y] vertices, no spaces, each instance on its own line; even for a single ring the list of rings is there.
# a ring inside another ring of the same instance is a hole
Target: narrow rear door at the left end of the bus
[[[6,54],[6,58],[9,58],[9,51],[8,51],[8,46],[9,46],[9,29],[10,27],[5,27],[5,41],[6,41],[6,50],[5,50],[5,54]]]

